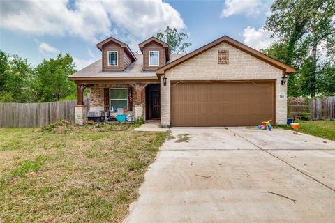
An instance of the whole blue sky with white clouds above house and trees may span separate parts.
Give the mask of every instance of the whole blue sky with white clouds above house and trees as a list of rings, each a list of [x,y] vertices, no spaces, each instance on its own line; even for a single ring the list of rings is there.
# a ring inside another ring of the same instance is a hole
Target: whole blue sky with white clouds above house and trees
[[[37,65],[70,53],[77,70],[101,58],[110,36],[136,52],[166,26],[188,33],[191,52],[228,35],[255,49],[274,42],[263,29],[273,0],[0,0],[0,49]]]

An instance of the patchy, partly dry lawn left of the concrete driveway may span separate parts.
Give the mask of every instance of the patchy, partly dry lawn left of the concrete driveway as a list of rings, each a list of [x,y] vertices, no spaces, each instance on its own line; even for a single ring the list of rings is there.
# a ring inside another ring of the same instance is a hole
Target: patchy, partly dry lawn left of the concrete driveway
[[[0,222],[121,222],[166,137],[133,128],[0,129]]]

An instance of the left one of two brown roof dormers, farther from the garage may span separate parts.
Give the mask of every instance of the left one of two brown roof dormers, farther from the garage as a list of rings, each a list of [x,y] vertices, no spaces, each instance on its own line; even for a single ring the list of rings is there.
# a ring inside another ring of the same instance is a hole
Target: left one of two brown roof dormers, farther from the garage
[[[133,61],[137,61],[131,49],[115,38],[107,38],[96,45],[101,50],[103,71],[123,71]]]

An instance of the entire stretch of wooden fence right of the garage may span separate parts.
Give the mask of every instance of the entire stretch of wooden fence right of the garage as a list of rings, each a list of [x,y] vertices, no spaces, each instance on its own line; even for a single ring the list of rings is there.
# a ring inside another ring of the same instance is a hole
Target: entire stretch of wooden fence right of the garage
[[[327,98],[288,98],[288,118],[335,120],[335,96]]]

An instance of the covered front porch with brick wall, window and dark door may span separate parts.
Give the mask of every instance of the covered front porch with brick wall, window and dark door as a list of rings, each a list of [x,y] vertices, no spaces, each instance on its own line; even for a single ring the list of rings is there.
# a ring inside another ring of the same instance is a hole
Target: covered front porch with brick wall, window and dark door
[[[87,107],[83,103],[84,89],[89,88],[89,109],[117,114],[117,109],[124,109],[124,114],[131,114],[133,119],[160,121],[161,90],[158,83],[77,83],[77,106],[75,123],[84,125],[87,122]]]

